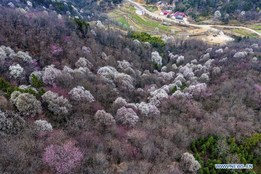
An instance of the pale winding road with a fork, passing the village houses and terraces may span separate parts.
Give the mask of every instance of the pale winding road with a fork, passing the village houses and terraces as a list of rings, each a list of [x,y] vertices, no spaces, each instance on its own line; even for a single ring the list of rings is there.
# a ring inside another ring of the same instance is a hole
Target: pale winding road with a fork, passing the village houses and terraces
[[[214,25],[197,25],[197,24],[190,24],[190,23],[185,23],[185,22],[182,22],[182,21],[177,21],[177,20],[171,20],[169,18],[166,18],[164,16],[160,16],[160,15],[157,15],[153,12],[150,12],[149,10],[147,10],[144,6],[142,6],[140,3],[137,3],[137,2],[134,2],[132,0],[125,0],[125,1],[128,1],[130,3],[133,3],[135,4],[138,8],[140,8],[141,10],[144,10],[147,14],[153,16],[153,17],[156,17],[156,18],[160,18],[160,19],[164,19],[166,21],[171,21],[171,22],[175,22],[175,23],[181,23],[181,24],[184,24],[184,25],[188,25],[188,26],[194,26],[194,27],[202,27],[202,28],[207,28],[207,29],[211,29],[211,30],[214,30],[214,31],[217,31],[219,32],[220,35],[222,35],[227,41],[232,41],[234,40],[232,37],[229,37],[227,35],[225,35],[222,31],[219,31],[218,29],[216,28],[213,28]],[[216,27],[225,27],[225,28],[243,28],[245,30],[248,30],[248,31],[251,31],[253,33],[256,33],[258,35],[261,36],[260,33],[250,29],[250,28],[246,28],[246,27],[236,27],[236,26],[222,26],[222,25],[215,25]]]

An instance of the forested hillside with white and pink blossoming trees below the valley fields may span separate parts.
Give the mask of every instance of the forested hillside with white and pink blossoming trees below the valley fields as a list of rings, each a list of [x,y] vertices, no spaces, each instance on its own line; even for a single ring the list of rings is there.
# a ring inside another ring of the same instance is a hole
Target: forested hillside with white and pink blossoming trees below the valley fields
[[[124,35],[88,13],[0,7],[0,173],[261,173],[260,39]]]

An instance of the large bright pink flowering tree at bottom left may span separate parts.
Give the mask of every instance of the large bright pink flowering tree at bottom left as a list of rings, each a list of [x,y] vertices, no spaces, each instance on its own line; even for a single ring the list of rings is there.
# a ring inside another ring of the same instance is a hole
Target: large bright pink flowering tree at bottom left
[[[58,174],[73,173],[83,159],[82,152],[74,145],[74,141],[68,141],[62,146],[55,144],[47,146],[43,155],[43,162]]]

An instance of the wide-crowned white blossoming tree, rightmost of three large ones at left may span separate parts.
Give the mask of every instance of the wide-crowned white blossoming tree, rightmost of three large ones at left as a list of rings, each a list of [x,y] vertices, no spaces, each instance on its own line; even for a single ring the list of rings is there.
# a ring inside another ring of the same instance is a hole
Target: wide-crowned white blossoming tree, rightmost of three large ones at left
[[[69,96],[72,101],[86,100],[90,103],[94,101],[94,97],[91,95],[91,93],[87,90],[84,90],[84,87],[82,86],[73,88],[69,92]]]

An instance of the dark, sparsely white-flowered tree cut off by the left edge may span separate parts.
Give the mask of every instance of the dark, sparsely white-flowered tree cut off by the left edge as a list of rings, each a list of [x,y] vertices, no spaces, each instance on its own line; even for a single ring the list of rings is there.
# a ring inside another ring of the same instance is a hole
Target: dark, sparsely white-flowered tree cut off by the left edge
[[[0,135],[18,134],[25,126],[25,120],[13,111],[2,112],[0,110]]]

